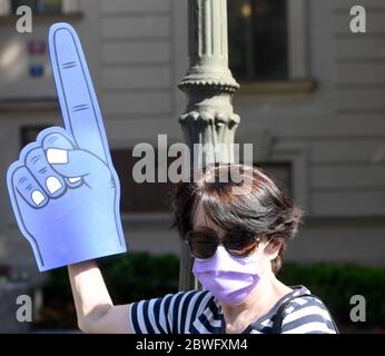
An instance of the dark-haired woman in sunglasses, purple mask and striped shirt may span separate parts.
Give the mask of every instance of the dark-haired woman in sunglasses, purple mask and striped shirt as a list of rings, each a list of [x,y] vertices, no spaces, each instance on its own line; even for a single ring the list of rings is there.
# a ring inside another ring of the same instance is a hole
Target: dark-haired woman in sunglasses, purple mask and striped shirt
[[[113,306],[95,263],[69,266],[81,330],[337,332],[325,305],[306,287],[288,287],[275,276],[302,211],[260,170],[208,167],[197,181],[177,186],[174,215],[204,289]]]

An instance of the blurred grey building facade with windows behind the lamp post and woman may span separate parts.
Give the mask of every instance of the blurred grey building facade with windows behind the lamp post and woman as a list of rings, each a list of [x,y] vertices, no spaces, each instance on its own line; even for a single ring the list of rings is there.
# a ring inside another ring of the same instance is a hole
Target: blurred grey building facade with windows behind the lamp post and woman
[[[229,61],[240,83],[237,142],[305,210],[287,250],[296,263],[384,265],[385,2],[363,0],[367,32],[352,33],[354,0],[228,0]],[[33,31],[18,33],[18,6]],[[122,185],[131,251],[179,255],[168,184],[135,184],[136,144],[181,141],[177,88],[188,68],[186,0],[0,0],[0,265],[37,275],[6,190],[8,166],[45,127],[61,125],[47,53],[50,23],[78,30]]]

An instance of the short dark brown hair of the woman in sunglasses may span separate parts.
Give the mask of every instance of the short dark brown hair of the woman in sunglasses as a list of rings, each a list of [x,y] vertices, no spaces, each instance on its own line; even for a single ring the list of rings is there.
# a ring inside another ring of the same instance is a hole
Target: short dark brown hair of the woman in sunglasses
[[[227,171],[227,172],[226,172]],[[227,175],[227,180],[219,179]],[[287,240],[292,239],[302,222],[303,211],[288,199],[274,179],[255,167],[244,165],[210,165],[199,179],[177,184],[172,195],[174,227],[180,237],[192,229],[197,207],[225,230],[234,228],[253,231],[267,238],[283,239],[277,258],[272,261],[276,274],[282,265]],[[248,179],[248,180],[247,180]],[[241,181],[249,181],[246,187]],[[234,195],[233,188],[239,191]]]

